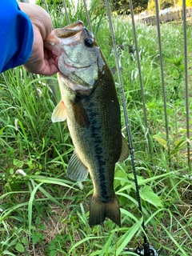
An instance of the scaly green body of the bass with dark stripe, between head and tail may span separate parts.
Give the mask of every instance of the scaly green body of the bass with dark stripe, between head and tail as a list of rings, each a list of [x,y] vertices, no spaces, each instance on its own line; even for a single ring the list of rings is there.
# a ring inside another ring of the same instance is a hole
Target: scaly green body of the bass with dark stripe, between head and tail
[[[95,86],[90,95],[79,97],[90,120],[88,128],[83,128],[75,120],[73,103],[70,101],[71,94],[72,98],[75,94],[68,87],[64,99],[67,112],[70,112],[67,124],[75,150],[90,171],[94,183],[94,197],[104,203],[115,198],[114,165],[118,162],[122,149],[118,98],[114,81],[109,79],[109,76],[111,75],[108,74],[106,81],[106,74],[103,74],[98,80],[98,86]],[[120,225],[119,218],[116,222]],[[94,220],[90,220],[90,225],[94,225]]]

